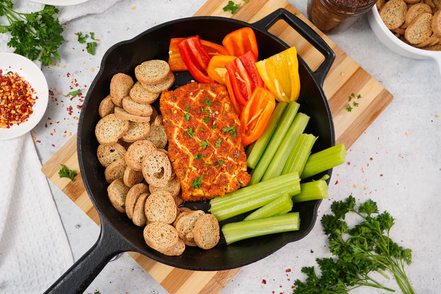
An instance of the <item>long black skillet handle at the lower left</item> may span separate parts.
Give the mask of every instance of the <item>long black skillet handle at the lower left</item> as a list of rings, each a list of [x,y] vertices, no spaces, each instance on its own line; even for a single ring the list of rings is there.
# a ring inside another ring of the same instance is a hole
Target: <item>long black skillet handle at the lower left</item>
[[[67,270],[45,294],[82,294],[106,264],[117,254],[130,251],[130,245],[113,227],[101,221],[98,241]]]

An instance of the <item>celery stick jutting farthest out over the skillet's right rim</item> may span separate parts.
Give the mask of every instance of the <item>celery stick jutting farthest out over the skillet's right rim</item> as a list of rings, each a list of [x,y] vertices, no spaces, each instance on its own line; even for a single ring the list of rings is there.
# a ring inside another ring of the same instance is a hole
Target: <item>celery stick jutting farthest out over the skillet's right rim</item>
[[[300,178],[306,179],[310,176],[332,169],[344,162],[346,149],[343,144],[326,148],[317,153],[311,154],[306,160]]]

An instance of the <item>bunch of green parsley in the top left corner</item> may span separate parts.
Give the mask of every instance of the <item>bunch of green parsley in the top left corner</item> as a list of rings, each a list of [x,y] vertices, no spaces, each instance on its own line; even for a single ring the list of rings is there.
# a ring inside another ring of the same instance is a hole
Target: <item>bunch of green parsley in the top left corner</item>
[[[52,58],[60,61],[58,48],[64,42],[64,29],[54,17],[58,9],[45,5],[37,12],[20,13],[13,6],[11,0],[0,0],[0,17],[4,16],[9,23],[0,25],[0,33],[10,32],[12,36],[8,47],[31,60],[38,59],[43,65],[50,65]]]

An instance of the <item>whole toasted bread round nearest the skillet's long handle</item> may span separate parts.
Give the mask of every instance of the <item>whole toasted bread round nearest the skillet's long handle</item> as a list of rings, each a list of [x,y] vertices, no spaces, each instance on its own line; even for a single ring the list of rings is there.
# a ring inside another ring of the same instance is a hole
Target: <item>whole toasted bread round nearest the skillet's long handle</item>
[[[144,240],[147,245],[159,252],[171,249],[178,239],[176,229],[165,222],[150,222],[144,228]]]

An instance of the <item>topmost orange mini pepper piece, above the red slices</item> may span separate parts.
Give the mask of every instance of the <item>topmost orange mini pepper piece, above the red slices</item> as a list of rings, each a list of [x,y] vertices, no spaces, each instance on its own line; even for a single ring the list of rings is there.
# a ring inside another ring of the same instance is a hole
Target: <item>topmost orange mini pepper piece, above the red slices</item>
[[[251,50],[256,59],[259,56],[256,35],[250,27],[243,27],[229,33],[223,38],[222,45],[227,49],[228,55],[239,57],[246,51]]]

